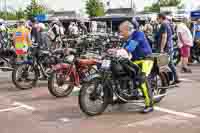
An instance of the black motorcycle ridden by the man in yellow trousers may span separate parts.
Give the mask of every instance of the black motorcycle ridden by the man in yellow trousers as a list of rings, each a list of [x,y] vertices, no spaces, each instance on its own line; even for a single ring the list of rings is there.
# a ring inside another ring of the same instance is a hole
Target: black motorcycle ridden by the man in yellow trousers
[[[121,103],[144,103],[140,85],[146,81],[155,103],[160,102],[167,92],[167,80],[158,56],[151,58],[154,66],[149,77],[141,67],[127,59],[108,56],[100,65],[99,74],[88,76],[79,93],[80,109],[89,116],[104,112],[115,100]],[[163,72],[162,72],[163,71]]]

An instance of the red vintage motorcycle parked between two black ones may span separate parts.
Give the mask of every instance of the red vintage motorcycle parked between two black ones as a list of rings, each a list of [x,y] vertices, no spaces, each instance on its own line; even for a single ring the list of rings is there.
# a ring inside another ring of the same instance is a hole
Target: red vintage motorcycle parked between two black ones
[[[71,54],[64,62],[53,67],[48,79],[48,90],[56,97],[67,97],[88,75],[97,72],[97,59],[80,59]]]

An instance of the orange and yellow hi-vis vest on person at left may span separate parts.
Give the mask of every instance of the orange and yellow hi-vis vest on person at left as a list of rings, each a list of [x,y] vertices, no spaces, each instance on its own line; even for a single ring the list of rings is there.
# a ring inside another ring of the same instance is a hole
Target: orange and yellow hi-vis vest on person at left
[[[25,55],[27,54],[27,50],[29,47],[29,30],[24,28],[17,28],[15,32],[15,52],[17,55]]]

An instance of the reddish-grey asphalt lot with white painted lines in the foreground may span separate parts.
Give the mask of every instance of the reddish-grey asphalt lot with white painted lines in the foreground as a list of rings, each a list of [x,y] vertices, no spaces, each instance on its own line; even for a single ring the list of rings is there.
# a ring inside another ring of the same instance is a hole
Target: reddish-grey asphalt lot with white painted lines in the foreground
[[[76,93],[55,98],[46,81],[31,90],[18,90],[11,74],[0,72],[0,133],[199,133],[200,66],[181,74],[182,83],[168,90],[165,99],[150,114],[140,114],[139,105],[109,106],[96,117],[79,109]]]

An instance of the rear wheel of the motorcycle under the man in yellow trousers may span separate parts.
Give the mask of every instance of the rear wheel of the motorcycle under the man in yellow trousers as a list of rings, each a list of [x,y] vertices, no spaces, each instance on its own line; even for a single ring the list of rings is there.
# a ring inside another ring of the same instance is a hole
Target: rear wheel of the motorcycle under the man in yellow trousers
[[[168,86],[167,80],[163,74],[159,74],[153,77],[150,82],[152,87],[154,103],[159,103],[166,95]]]

